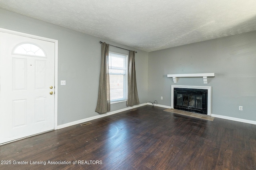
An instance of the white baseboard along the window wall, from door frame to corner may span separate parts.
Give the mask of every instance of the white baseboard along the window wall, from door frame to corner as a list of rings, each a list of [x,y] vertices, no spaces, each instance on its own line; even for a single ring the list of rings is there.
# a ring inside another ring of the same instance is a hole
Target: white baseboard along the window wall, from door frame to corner
[[[111,111],[111,112],[104,113],[104,114],[97,115],[97,116],[93,116],[93,117],[88,117],[86,119],[72,121],[70,123],[65,123],[63,125],[58,125],[57,129],[62,129],[64,127],[69,127],[69,126],[72,126],[72,125],[77,125],[77,124],[80,124],[80,123],[84,123],[84,122],[91,121],[91,120],[94,120],[94,119],[99,119],[101,117],[106,117],[106,116],[109,116],[109,115],[113,115],[113,114],[116,114],[116,113],[119,113],[119,112],[122,112],[122,111],[130,110],[130,109],[133,109],[133,108],[136,108],[136,107],[145,106],[145,105],[147,105],[147,103],[139,104],[139,105],[132,106],[132,107],[126,107],[124,109],[120,109],[120,110],[116,110],[116,111]]]

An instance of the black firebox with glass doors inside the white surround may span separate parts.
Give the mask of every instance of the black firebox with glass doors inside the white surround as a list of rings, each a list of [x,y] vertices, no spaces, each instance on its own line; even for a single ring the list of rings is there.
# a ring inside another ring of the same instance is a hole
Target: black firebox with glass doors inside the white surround
[[[207,89],[174,88],[174,109],[207,114]]]

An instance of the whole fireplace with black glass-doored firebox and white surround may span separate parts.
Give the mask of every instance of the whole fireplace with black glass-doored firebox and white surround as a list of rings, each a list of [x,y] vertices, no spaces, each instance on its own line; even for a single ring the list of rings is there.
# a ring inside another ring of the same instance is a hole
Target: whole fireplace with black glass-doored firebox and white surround
[[[171,108],[211,115],[211,86],[172,85]]]

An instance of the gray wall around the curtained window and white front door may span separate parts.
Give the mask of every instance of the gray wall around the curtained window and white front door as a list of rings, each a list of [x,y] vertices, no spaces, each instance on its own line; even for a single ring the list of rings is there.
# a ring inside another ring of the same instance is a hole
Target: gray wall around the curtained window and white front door
[[[100,75],[101,45],[90,35],[65,29],[0,9],[0,27],[58,40],[58,125],[96,116]],[[140,103],[148,100],[148,53],[106,41],[112,45],[138,51],[136,76]],[[110,49],[114,52],[126,52]],[[66,86],[60,86],[66,80]],[[126,108],[126,103],[112,104],[110,111]]]

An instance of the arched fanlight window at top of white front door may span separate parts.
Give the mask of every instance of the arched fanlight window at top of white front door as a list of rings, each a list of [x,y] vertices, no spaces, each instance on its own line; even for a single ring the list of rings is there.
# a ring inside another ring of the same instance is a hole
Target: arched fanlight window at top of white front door
[[[16,45],[12,54],[46,57],[44,50],[32,43],[21,43]]]

